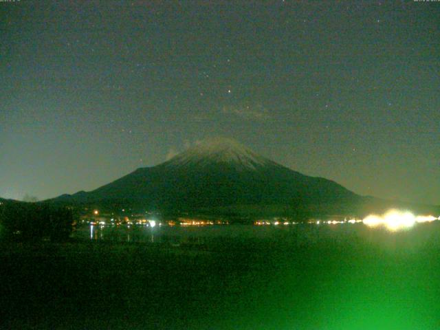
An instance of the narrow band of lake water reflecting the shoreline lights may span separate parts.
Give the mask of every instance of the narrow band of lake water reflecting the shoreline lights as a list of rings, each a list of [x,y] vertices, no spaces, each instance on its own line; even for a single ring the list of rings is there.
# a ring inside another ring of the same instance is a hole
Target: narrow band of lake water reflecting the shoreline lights
[[[430,220],[430,219],[429,219]],[[408,244],[423,243],[439,221],[418,223],[410,231],[390,232],[384,226],[370,228],[364,223],[346,225],[211,225],[204,227],[155,225],[88,225],[74,233],[76,239],[115,243],[166,244],[169,246],[217,246],[245,241],[271,241],[274,244],[302,245],[347,240],[366,240],[378,245],[395,245],[401,240]],[[252,243],[254,244],[254,243]]]

